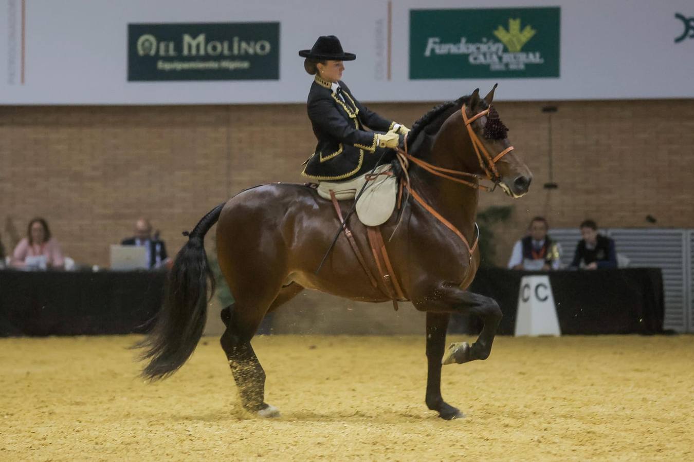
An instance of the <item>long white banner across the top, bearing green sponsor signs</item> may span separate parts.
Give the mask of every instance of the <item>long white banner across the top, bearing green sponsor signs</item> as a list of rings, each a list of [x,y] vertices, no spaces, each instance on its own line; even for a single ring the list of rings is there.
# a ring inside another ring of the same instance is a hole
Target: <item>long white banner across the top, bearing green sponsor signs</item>
[[[302,103],[330,34],[365,101],[694,98],[691,0],[0,0],[0,24],[3,105]]]

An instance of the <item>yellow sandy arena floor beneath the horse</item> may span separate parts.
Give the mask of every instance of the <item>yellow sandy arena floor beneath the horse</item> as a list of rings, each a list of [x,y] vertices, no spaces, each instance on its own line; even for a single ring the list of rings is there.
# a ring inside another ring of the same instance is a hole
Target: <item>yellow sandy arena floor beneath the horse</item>
[[[443,368],[451,422],[424,405],[423,336],[256,337],[273,420],[239,409],[217,338],[158,384],[137,339],[0,339],[0,459],[694,459],[691,335],[498,337]]]

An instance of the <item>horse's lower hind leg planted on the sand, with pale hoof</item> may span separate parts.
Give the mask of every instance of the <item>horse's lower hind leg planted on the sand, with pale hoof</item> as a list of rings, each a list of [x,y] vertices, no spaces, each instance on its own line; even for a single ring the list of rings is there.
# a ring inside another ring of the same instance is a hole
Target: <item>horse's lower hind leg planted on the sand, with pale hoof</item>
[[[254,308],[249,309],[237,302],[222,310],[221,319],[226,330],[220,343],[244,409],[258,416],[275,417],[279,411],[264,402],[265,371],[251,346],[251,339],[264,317],[266,306],[260,308],[256,305]]]

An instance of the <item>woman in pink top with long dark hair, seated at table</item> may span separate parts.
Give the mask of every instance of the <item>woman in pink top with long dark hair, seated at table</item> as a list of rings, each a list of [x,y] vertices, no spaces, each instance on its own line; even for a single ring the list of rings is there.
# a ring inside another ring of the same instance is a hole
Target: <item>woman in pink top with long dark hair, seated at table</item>
[[[26,269],[61,269],[65,266],[60,245],[53,237],[43,218],[34,218],[23,238],[15,247],[10,265]]]

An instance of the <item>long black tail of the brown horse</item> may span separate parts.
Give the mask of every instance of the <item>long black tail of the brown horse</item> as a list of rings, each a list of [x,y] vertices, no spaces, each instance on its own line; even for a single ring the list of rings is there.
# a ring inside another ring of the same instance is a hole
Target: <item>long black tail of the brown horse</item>
[[[208,278],[211,294],[214,294],[214,278],[203,240],[219,219],[223,206],[214,207],[188,234],[188,242],[178,252],[169,272],[164,303],[154,328],[135,345],[135,348],[147,349],[140,359],[150,359],[142,370],[142,376],[149,380],[166,378],[178,371],[203,335],[207,320]]]

